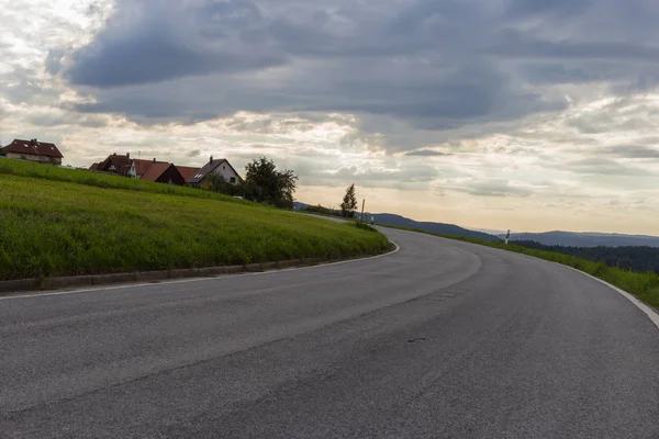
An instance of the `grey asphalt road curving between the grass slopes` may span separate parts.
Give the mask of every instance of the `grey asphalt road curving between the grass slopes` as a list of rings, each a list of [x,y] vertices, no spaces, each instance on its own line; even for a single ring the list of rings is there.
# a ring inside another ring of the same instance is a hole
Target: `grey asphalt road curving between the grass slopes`
[[[379,259],[0,300],[0,438],[657,438],[659,330],[567,268]]]

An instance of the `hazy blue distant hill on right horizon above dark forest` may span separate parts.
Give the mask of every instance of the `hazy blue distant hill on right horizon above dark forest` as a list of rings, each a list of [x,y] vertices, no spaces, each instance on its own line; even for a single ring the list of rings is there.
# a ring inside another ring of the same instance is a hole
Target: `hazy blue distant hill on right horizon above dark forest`
[[[535,241],[544,246],[563,247],[659,247],[657,236],[573,232],[511,234],[511,241]]]

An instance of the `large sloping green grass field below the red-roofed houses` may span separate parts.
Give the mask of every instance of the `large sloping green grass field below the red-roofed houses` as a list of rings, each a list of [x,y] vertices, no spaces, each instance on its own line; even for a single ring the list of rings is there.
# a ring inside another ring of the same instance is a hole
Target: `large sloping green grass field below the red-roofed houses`
[[[0,159],[0,280],[348,257],[388,239],[129,178]]]

